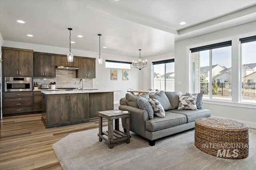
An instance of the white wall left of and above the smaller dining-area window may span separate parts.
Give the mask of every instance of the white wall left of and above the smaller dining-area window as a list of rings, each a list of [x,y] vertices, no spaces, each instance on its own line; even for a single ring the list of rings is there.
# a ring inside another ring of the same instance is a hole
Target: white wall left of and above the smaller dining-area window
[[[148,65],[145,68],[142,68],[142,90],[147,90],[153,88],[153,65],[154,61],[174,59],[174,52],[164,53],[160,55],[153,55],[150,57],[144,57],[142,60],[147,60]]]

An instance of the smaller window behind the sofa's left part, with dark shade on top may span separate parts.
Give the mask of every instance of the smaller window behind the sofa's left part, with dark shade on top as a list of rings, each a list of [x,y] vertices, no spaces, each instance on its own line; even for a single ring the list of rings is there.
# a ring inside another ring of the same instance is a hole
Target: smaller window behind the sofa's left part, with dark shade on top
[[[174,59],[153,62],[153,88],[174,91]]]

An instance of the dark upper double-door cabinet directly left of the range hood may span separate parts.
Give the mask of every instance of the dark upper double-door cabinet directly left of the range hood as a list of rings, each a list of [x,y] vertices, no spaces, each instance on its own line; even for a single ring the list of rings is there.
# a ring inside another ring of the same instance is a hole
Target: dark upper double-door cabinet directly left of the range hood
[[[55,56],[34,52],[34,77],[55,77]]]

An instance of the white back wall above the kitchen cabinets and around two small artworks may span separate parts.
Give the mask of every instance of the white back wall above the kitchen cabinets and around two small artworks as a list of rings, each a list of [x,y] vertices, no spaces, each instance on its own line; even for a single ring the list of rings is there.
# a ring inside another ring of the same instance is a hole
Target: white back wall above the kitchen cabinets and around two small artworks
[[[66,55],[68,53],[68,48],[52,47],[46,45],[37,45],[29,43],[21,43],[15,41],[4,41],[2,45],[4,47],[13,47],[21,49],[32,49],[36,52],[43,53],[54,53]],[[81,57],[92,57],[97,58],[98,52],[83,51],[72,49],[72,54]],[[110,69],[105,68],[105,60],[116,60],[116,61],[126,61],[132,62],[132,60],[138,60],[137,57],[127,57],[121,55],[112,55],[101,53],[101,57],[104,59],[102,65],[96,63],[96,78],[93,79],[93,88],[99,90],[120,90],[120,92],[114,92],[114,103],[119,103],[120,98],[123,98],[126,94],[128,88],[133,88],[134,90],[140,90],[142,88],[141,75],[142,73],[138,69],[129,70],[129,80],[122,80],[122,69],[118,69],[118,80],[110,80]],[[98,84],[96,84],[96,82]]]

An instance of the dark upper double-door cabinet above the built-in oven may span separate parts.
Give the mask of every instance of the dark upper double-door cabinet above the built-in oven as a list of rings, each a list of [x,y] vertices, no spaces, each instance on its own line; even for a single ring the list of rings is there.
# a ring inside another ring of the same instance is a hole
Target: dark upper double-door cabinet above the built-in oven
[[[4,76],[33,76],[33,50],[2,47]]]

